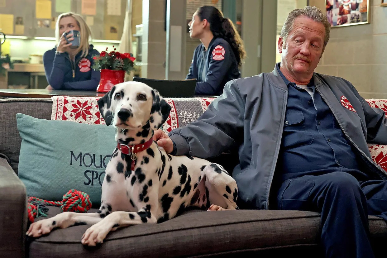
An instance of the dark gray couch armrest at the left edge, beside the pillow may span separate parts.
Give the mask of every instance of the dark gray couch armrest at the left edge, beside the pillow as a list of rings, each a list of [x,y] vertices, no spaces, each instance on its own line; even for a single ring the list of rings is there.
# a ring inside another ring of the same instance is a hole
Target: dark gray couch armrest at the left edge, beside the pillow
[[[24,257],[26,227],[26,187],[0,157],[0,257]]]

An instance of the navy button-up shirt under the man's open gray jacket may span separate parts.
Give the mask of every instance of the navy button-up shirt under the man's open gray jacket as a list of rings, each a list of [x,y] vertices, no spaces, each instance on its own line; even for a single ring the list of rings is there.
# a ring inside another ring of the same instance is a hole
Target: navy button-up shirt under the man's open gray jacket
[[[352,174],[359,181],[367,178],[360,172],[356,154],[342,132],[328,105],[312,81],[306,89],[289,82],[277,70],[288,86],[288,102],[277,163],[280,181],[305,175],[320,175],[334,171]]]

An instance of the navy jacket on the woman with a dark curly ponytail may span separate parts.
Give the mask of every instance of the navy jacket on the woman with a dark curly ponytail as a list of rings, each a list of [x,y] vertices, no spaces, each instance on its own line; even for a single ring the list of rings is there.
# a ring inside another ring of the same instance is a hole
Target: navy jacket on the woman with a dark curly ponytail
[[[238,62],[230,44],[223,38],[213,38],[207,51],[203,44],[195,48],[185,79],[198,80],[195,94],[219,96],[229,80],[240,76]]]

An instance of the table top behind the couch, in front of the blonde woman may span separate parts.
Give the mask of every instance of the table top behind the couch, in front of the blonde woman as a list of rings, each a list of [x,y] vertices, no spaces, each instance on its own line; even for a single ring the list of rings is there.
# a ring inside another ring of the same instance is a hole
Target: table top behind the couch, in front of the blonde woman
[[[72,97],[102,97],[105,93],[96,91],[66,91],[47,89],[0,89],[0,97],[43,97],[72,96]]]

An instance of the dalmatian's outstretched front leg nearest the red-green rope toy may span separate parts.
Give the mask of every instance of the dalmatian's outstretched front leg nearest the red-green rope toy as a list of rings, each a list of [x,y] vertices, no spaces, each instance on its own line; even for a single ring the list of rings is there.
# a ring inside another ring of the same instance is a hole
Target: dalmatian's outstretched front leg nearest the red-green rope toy
[[[50,233],[57,227],[65,229],[71,226],[96,224],[110,212],[111,206],[109,204],[101,205],[99,211],[93,213],[62,212],[52,218],[42,219],[32,223],[29,226],[26,235],[40,237]]]

